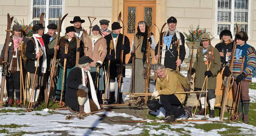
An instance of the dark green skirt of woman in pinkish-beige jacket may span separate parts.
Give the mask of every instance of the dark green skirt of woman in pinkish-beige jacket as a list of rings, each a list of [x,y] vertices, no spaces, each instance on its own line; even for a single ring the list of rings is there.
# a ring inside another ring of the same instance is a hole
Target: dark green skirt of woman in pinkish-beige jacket
[[[100,72],[99,72],[99,89],[98,90],[104,90],[104,76],[103,76],[103,67],[99,67]],[[97,73],[97,67],[91,67],[90,73],[92,75],[92,81],[95,84],[97,78],[96,78],[96,73]],[[97,84],[97,83],[96,83]],[[96,88],[95,88],[96,90]]]

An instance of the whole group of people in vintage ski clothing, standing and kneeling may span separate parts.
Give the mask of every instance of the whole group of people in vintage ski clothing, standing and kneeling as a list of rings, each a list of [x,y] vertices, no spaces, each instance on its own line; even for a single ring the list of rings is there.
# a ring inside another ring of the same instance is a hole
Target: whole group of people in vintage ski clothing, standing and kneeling
[[[108,104],[116,102],[115,82],[118,81],[118,77],[120,77],[117,74],[117,70],[120,67],[120,61],[125,62],[125,55],[128,53],[131,53],[131,56],[135,58],[134,91],[143,93],[145,91],[143,69],[148,55],[147,50],[150,50],[150,61],[152,58],[155,58],[159,60],[159,63],[154,65],[154,72],[157,77],[156,91],[153,92],[152,96],[156,99],[149,101],[148,107],[156,110],[159,108],[158,102],[161,101],[166,111],[165,122],[175,121],[175,119],[182,114],[187,114],[188,117],[191,116],[191,107],[183,108],[186,94],[177,93],[185,91],[177,75],[173,72],[173,70],[179,71],[177,67],[180,67],[186,55],[185,37],[176,29],[177,19],[175,17],[167,19],[168,29],[160,34],[161,40],[158,41],[158,43],[156,43],[153,33],[148,37],[150,30],[147,29],[147,24],[144,21],[138,22],[137,33],[133,35],[131,46],[128,37],[120,33],[122,27],[118,22],[111,24],[112,31],[110,31],[108,30],[109,21],[105,19],[100,20],[101,29],[98,25],[94,25],[92,27],[92,35],[90,36],[84,36],[85,33],[83,33],[81,27],[84,22],[85,21],[80,17],[74,17],[73,21],[70,21],[74,26],[68,26],[66,28],[66,34],[63,37],[59,37],[60,41],[58,45],[55,45],[58,39],[56,24],[49,24],[46,34],[44,34],[43,24],[35,24],[33,26],[34,34],[30,39],[24,37],[22,28],[19,25],[13,25],[10,44],[4,44],[0,57],[0,63],[3,64],[5,46],[9,46],[7,61],[10,64],[8,69],[10,76],[6,77],[6,89],[9,97],[8,106],[13,105],[13,91],[15,91],[16,94],[16,104],[21,103],[19,78],[20,56],[23,58],[23,69],[30,74],[30,81],[34,80],[36,74],[34,90],[32,90],[32,84],[29,88],[30,96],[31,93],[34,92],[34,95],[32,95],[34,97],[31,99],[33,108],[39,105],[39,93],[44,92],[43,90],[47,88],[50,74],[54,72],[50,99],[52,101],[62,99],[62,101],[65,101],[65,104],[69,106],[70,112],[81,114],[100,110],[100,104],[103,103],[102,95],[107,93],[104,91],[106,87],[106,75],[104,71],[108,71],[108,69],[110,90]],[[246,43],[248,40],[246,32],[240,31],[236,34],[234,65],[231,72],[229,70],[229,62],[234,44],[231,31],[223,30],[220,33],[220,40],[220,43],[213,47],[209,34],[204,33],[201,35],[201,44],[203,46],[197,49],[196,62],[191,69],[191,75],[195,73],[195,91],[205,90],[207,93],[201,92],[197,94],[198,99],[200,99],[201,109],[196,112],[196,115],[204,115],[205,99],[207,98],[210,110],[209,117],[215,117],[216,77],[218,74],[222,73],[224,73],[226,77],[232,74],[235,80],[233,84],[235,92],[237,90],[237,84],[242,84],[242,99],[239,101],[238,107],[239,119],[243,119],[244,123],[248,123],[250,103],[248,93],[249,83],[254,76],[252,74],[255,73],[255,49]],[[78,45],[77,42],[80,42],[80,44]],[[22,54],[20,48],[18,48],[21,43],[26,45],[24,54]],[[112,43],[113,46],[111,45]],[[147,49],[148,43],[150,43],[150,49]],[[68,48],[67,52],[65,51],[66,46]],[[51,71],[52,63],[55,63],[52,62],[55,50],[57,51],[57,69],[56,71]],[[160,54],[157,53],[158,50],[160,50]],[[152,51],[155,51],[155,55]],[[123,57],[120,56],[121,52],[123,52]],[[79,58],[77,58],[77,56],[79,56]],[[243,57],[245,57],[244,68],[242,73],[240,73]],[[36,71],[36,65],[38,63],[37,58],[40,59]],[[121,58],[123,58],[123,60],[120,60]],[[66,64],[64,63],[65,59],[67,60]],[[124,103],[122,95],[125,66],[121,67],[124,67],[124,69],[119,86],[118,102]],[[63,74],[64,71],[65,74]],[[64,78],[63,75],[65,76]],[[207,86],[204,85],[206,77],[209,83],[206,84]],[[157,107],[152,107],[150,102],[153,103],[155,101],[158,103]]]

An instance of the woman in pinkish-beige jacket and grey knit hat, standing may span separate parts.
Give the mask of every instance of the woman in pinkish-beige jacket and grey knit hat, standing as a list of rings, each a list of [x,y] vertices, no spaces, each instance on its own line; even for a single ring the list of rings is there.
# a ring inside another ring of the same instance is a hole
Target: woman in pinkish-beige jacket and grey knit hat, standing
[[[102,104],[102,94],[104,93],[104,70],[103,62],[107,55],[107,43],[106,39],[100,35],[100,27],[96,24],[92,27],[92,35],[87,36],[88,52],[87,56],[95,60],[91,65],[91,74],[93,82],[98,82],[97,95],[98,101]],[[99,67],[98,77],[96,77],[97,68]],[[99,80],[97,79],[99,78]]]

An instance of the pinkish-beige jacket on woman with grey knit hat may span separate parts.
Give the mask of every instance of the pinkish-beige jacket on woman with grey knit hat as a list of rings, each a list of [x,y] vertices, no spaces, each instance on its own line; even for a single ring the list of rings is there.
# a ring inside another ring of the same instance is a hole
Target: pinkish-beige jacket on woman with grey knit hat
[[[103,38],[102,36],[95,42],[94,47],[93,47],[93,51],[92,51],[92,40],[87,37],[87,46],[88,46],[88,53],[87,55],[92,58],[92,60],[94,60],[92,62],[93,67],[95,67],[96,62],[99,62],[101,65],[104,62],[104,59],[107,55],[107,41],[105,38]],[[101,51],[101,55],[100,53],[100,49],[102,46],[102,51]]]

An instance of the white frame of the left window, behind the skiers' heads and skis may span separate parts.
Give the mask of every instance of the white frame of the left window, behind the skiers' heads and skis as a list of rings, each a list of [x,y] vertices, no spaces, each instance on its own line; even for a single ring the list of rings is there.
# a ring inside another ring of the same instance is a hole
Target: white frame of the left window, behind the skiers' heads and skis
[[[46,1],[46,13],[45,13],[45,18],[44,18],[44,21],[45,21],[45,28],[44,28],[44,33],[47,33],[48,32],[48,28],[47,28],[47,25],[49,25],[49,1],[50,0],[45,0]],[[65,7],[65,0],[61,0],[62,1],[62,15],[61,17],[64,16],[64,7]],[[33,0],[30,0],[31,4],[30,4],[30,23],[33,22],[34,20],[39,20],[39,19],[33,19]],[[56,18],[56,20],[58,20],[58,18]],[[35,25],[35,24],[33,24]],[[57,24],[58,26],[58,24]],[[58,26],[59,27],[59,26]],[[60,34],[64,34],[64,23],[61,24],[61,30],[60,30]],[[57,31],[58,31],[58,28],[57,28]]]

